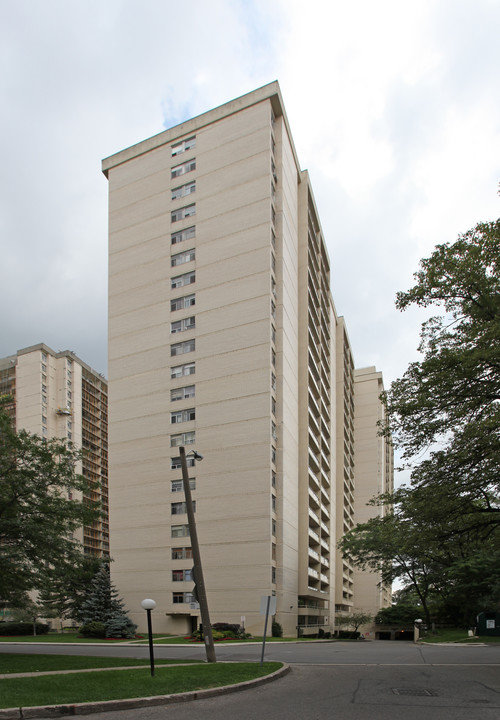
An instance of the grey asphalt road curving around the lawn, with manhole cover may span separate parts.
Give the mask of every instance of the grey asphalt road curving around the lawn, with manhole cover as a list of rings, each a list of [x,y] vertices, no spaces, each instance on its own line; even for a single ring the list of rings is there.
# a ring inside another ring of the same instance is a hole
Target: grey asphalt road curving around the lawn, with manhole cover
[[[29,650],[28,650],[29,647]],[[218,646],[218,660],[258,660],[260,646]],[[147,657],[147,647],[2,643],[0,652]],[[198,646],[162,646],[155,656],[204,657]],[[406,642],[283,643],[266,660],[291,672],[231,695],[100,713],[92,720],[499,720],[500,647]]]

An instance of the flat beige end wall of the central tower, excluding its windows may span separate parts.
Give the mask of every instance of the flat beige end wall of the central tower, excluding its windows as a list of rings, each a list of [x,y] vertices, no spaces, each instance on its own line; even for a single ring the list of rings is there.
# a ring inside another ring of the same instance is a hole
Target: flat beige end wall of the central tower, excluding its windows
[[[109,171],[112,573],[136,622],[154,593],[159,631],[191,612],[172,603],[192,588],[171,577],[192,565],[170,558],[189,545],[170,537],[171,524],[187,523],[170,514],[179,500],[170,480],[181,477],[170,469],[173,431],[195,430],[206,455],[193,498],[212,621],[246,615],[247,627],[260,626],[260,597],[272,591],[269,148],[263,103],[197,128],[190,175],[170,180],[185,157],[174,160],[170,146]],[[171,201],[170,188],[191,178],[196,191]],[[191,202],[196,215],[171,224],[171,210]],[[171,232],[193,224],[196,238],[170,245]],[[196,259],[171,268],[170,255],[189,247]],[[171,290],[170,278],[191,269],[196,282]],[[192,292],[195,306],[170,312],[171,297]],[[170,322],[191,315],[196,329],[171,336]],[[191,337],[194,352],[170,356],[172,342]],[[171,379],[173,365],[192,361],[194,375]],[[170,390],[187,384],[195,398],[171,403]],[[196,419],[172,426],[170,412],[191,406]]]

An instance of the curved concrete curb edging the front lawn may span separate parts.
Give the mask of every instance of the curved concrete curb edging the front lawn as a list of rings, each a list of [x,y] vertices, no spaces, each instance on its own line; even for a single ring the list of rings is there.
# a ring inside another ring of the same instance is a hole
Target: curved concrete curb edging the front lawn
[[[266,685],[284,677],[290,672],[290,665],[283,663],[283,667],[270,675],[247,680],[236,685],[223,685],[206,690],[194,690],[174,695],[154,695],[145,698],[129,698],[125,700],[103,700],[92,703],[74,703],[70,705],[46,705],[26,708],[6,708],[0,710],[0,720],[28,720],[28,718],[60,718],[65,715],[91,715],[93,713],[110,712],[112,710],[135,710],[142,707],[155,707],[158,705],[171,705],[172,703],[190,702],[204,698],[228,695],[233,692],[250,690],[259,685]]]

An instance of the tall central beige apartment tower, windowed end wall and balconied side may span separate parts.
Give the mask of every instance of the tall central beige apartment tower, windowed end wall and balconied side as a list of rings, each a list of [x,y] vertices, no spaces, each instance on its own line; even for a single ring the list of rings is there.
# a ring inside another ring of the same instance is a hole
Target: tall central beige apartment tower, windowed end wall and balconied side
[[[344,506],[337,318],[278,84],[103,171],[111,572],[129,614],[144,626],[140,602],[152,597],[155,631],[199,621],[183,445],[205,456],[190,473],[212,622],[260,634],[260,599],[275,595],[286,635],[328,630]]]

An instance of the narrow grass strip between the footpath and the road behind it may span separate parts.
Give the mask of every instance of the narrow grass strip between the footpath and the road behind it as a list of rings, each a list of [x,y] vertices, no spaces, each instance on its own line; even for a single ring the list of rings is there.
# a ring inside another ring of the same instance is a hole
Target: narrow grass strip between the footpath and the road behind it
[[[158,665],[170,663],[193,663],[196,660],[157,660]],[[80,657],[78,655],[21,655],[0,653],[0,675],[20,672],[46,672],[51,670],[83,670],[102,667],[129,667],[137,665],[149,667],[149,658],[103,658]]]

